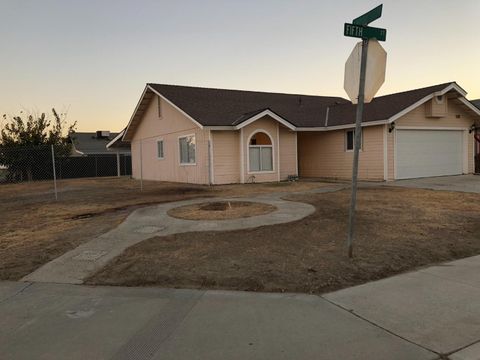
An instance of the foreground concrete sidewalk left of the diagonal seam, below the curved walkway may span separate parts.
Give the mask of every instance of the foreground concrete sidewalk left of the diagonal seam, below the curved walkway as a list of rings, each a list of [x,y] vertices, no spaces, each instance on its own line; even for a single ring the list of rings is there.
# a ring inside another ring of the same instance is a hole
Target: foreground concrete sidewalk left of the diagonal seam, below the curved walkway
[[[437,359],[313,295],[0,283],[2,360]]]

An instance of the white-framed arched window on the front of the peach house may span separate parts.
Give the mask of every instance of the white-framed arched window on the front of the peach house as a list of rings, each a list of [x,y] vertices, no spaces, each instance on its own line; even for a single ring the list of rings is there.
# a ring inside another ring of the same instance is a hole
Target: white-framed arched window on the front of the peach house
[[[252,135],[248,143],[249,171],[273,171],[272,139],[264,132]]]

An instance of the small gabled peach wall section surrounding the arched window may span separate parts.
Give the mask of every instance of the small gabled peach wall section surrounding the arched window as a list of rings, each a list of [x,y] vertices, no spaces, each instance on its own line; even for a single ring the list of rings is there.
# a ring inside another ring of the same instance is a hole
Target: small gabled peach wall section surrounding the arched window
[[[263,117],[257,121],[245,126],[240,130],[240,149],[242,154],[240,157],[243,158],[243,178],[241,177],[241,182],[272,182],[279,181],[279,151],[278,151],[278,138],[279,138],[279,123],[276,120],[273,120],[269,117]],[[269,172],[253,172],[249,170],[249,156],[248,156],[248,144],[250,137],[258,131],[266,132],[270,135],[273,144],[273,171]]]

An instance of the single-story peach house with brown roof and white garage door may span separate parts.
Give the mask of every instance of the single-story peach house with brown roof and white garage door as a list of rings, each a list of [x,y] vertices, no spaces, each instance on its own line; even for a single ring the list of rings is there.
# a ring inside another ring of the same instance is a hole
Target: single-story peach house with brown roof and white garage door
[[[359,178],[474,172],[480,109],[455,82],[366,104]],[[356,105],[341,97],[147,84],[123,135],[133,177],[197,184],[348,179]]]

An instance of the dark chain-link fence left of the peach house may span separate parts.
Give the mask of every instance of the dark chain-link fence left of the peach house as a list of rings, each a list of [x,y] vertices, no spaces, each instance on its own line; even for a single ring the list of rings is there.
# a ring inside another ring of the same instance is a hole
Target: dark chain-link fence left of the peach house
[[[60,180],[131,175],[129,154],[72,156],[64,147],[54,145],[0,147],[0,186],[51,181],[55,198]]]

